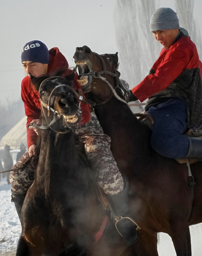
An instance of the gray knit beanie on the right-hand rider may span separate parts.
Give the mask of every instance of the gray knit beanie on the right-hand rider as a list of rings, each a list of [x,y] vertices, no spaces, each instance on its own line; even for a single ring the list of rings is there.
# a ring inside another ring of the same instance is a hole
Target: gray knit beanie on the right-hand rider
[[[150,20],[151,32],[167,29],[180,29],[177,13],[171,8],[159,8],[157,9]]]

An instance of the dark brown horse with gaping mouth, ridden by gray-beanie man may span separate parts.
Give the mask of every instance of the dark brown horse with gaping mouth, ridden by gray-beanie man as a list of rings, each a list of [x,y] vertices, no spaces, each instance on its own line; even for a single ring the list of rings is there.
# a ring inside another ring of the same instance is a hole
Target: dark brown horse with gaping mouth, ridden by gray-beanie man
[[[113,89],[123,98],[117,53],[98,55],[83,46],[76,48],[74,59],[78,81],[86,97],[96,103],[95,113],[104,133],[111,137],[111,151],[132,190],[131,214],[141,227],[134,255],[157,256],[157,232],[165,232],[171,236],[177,256],[191,256],[189,225],[202,222],[202,162],[191,165],[196,181],[192,204],[186,164],[154,152],[149,128],[114,96]]]

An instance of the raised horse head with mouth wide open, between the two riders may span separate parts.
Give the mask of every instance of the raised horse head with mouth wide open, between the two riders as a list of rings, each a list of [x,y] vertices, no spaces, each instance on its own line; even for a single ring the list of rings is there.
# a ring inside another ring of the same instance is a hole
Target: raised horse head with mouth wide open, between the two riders
[[[79,80],[87,98],[97,105],[108,101],[113,95],[110,87],[103,78],[112,85],[113,88],[119,83],[120,73],[118,68],[118,53],[99,55],[91,51],[84,45],[77,47],[74,53],[74,61],[79,69]],[[102,79],[98,79],[101,78]]]

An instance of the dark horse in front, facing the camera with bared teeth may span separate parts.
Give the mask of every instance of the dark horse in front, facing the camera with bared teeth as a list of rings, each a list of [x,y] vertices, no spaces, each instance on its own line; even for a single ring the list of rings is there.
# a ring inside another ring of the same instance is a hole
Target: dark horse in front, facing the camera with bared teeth
[[[47,129],[39,132],[38,166],[22,206],[17,256],[119,256],[126,247],[110,218],[95,242],[105,210],[76,151],[70,125],[79,116],[79,99],[70,78],[31,77],[42,104],[41,128]]]

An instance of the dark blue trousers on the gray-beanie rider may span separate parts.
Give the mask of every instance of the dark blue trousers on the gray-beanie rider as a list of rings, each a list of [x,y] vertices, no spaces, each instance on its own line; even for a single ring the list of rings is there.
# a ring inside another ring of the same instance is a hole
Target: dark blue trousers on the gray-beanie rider
[[[186,102],[168,99],[151,106],[146,113],[154,118],[151,147],[163,157],[186,157],[190,146],[189,139],[182,135],[187,129]]]

